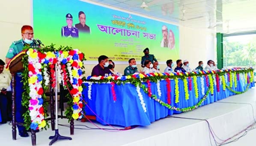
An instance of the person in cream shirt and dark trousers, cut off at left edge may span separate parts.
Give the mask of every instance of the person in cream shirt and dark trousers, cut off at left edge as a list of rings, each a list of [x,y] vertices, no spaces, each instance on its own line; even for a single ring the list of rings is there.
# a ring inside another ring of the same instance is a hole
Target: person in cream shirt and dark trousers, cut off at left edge
[[[10,73],[4,71],[4,61],[0,59],[0,111],[2,116],[1,124],[10,121],[12,118],[12,91]]]

